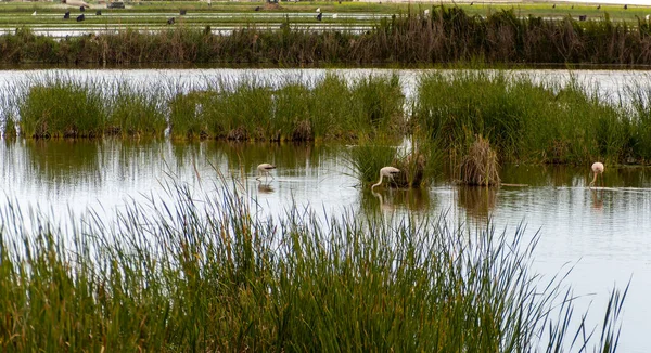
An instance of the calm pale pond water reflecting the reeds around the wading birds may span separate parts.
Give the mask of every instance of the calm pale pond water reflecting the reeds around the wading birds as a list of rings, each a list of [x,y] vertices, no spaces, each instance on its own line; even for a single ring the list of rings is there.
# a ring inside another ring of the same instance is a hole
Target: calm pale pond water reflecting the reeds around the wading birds
[[[346,74],[385,75],[387,70],[344,70]],[[80,78],[123,78],[151,84],[161,78],[201,86],[210,75],[242,77],[246,70],[88,70],[65,71]],[[259,70],[270,80],[295,75],[315,79],[324,70]],[[405,92],[413,95],[417,70],[400,71]],[[549,79],[567,73],[537,71]],[[0,86],[10,86],[42,71],[0,71]],[[604,99],[616,96],[639,73],[580,71],[579,79],[599,82]],[[354,75],[348,75],[354,76]],[[149,82],[149,83],[148,83]],[[0,92],[7,92],[0,87]],[[5,94],[5,93],[3,93]],[[1,112],[0,112],[1,113]],[[163,195],[163,184],[174,178],[210,193],[219,174],[241,180],[244,191],[257,198],[264,211],[282,214],[292,202],[310,205],[331,214],[345,210],[381,209],[388,214],[448,214],[448,222],[474,228],[489,218],[498,230],[514,233],[524,222],[531,237],[540,232],[535,270],[552,276],[573,266],[567,284],[584,296],[580,309],[592,301],[592,321],[601,314],[610,289],[631,287],[625,303],[621,352],[648,352],[651,330],[651,169],[607,166],[607,188],[586,187],[587,168],[506,166],[503,182],[527,184],[499,189],[452,185],[445,175],[422,192],[383,191],[373,195],[358,186],[346,161],[352,146],[294,144],[228,144],[169,141],[36,142],[0,140],[0,191],[22,207],[51,209],[64,221],[67,210],[87,208],[112,214],[129,199]],[[255,166],[278,165],[276,179],[255,181]],[[100,207],[101,205],[101,207]],[[1,206],[1,205],[0,205]]]

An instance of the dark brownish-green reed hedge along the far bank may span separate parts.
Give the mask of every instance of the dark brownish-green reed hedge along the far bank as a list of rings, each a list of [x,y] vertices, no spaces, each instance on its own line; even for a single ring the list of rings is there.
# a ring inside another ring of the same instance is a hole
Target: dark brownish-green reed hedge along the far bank
[[[232,32],[215,35],[201,22],[138,27],[58,40],[35,36],[28,27],[0,36],[0,61],[8,64],[602,64],[650,65],[651,24],[643,16],[614,22],[610,16],[579,22],[571,16],[544,19],[513,9],[473,15],[462,8],[408,8],[380,16],[368,30],[296,27],[277,18],[272,27],[253,17],[232,23]],[[101,16],[98,16],[101,17]],[[337,19],[339,21],[339,19]],[[354,25],[354,23],[346,23]],[[316,25],[310,23],[309,25]],[[308,27],[309,27],[308,25]],[[94,27],[93,27],[94,28]],[[108,27],[106,27],[108,28]],[[269,30],[270,28],[275,30]],[[278,29],[280,28],[280,29]]]

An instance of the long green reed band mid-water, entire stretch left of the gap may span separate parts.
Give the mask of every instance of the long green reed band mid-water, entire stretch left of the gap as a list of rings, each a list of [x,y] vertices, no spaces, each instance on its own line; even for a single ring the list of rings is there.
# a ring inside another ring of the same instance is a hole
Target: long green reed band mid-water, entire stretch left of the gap
[[[125,81],[50,77],[24,82],[14,101],[21,102],[21,130],[34,138],[163,136],[166,117],[175,139],[354,140],[400,136],[406,129],[395,75],[352,82],[328,75],[308,83],[288,81],[276,89],[255,79],[215,79],[205,90],[164,84],[149,90]]]

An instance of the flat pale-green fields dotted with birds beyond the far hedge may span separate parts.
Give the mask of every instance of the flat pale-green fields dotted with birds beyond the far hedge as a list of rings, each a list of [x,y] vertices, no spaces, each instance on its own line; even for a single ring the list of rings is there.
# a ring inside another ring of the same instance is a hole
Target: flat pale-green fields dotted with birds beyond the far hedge
[[[224,25],[242,26],[255,24],[280,24],[285,21],[295,24],[316,24],[316,9],[324,13],[322,24],[341,25],[372,25],[383,16],[391,14],[405,14],[408,12],[422,12],[437,2],[408,3],[371,3],[335,1],[328,2],[281,2],[266,4],[265,2],[217,2],[208,6],[204,1],[142,1],[125,2],[126,9],[106,9],[105,4],[94,1],[89,2],[91,8],[86,11],[86,21],[77,23],[76,16],[80,14],[76,6],[66,6],[60,2],[3,2],[0,3],[0,27],[11,28],[18,26],[54,27],[76,26],[92,27],[104,26],[137,26],[137,25],[165,25],[164,18],[177,16],[177,21],[193,26]],[[451,4],[450,4],[451,6]],[[578,18],[586,15],[588,19],[602,19],[609,16],[613,21],[625,21],[636,24],[638,18],[651,14],[651,6],[623,5],[596,5],[572,3],[518,3],[518,4],[486,4],[470,3],[457,4],[470,15],[486,16],[503,10],[513,10],[515,15],[527,17],[562,18],[572,16]],[[258,9],[258,11],[256,11]],[[187,10],[188,15],[179,16],[180,10]],[[63,19],[63,14],[71,11],[71,19]],[[97,11],[102,16],[95,15]],[[33,15],[36,12],[36,15]],[[232,13],[225,18],[220,14]],[[282,16],[285,13],[288,18]],[[56,15],[59,14],[59,16]],[[276,14],[276,15],[272,15]],[[303,14],[303,15],[299,15]],[[311,15],[310,15],[311,14]],[[332,15],[337,14],[337,18]],[[340,15],[341,14],[341,15]],[[359,16],[354,16],[355,14]]]

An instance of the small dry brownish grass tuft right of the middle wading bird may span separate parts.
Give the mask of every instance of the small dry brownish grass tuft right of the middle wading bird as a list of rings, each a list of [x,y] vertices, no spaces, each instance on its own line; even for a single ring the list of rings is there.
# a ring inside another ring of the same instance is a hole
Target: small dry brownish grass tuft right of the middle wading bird
[[[460,181],[467,185],[499,185],[499,164],[497,153],[490,147],[488,140],[475,136],[459,166]]]

